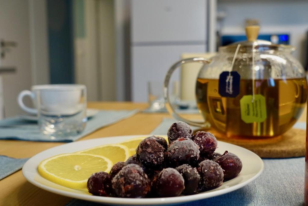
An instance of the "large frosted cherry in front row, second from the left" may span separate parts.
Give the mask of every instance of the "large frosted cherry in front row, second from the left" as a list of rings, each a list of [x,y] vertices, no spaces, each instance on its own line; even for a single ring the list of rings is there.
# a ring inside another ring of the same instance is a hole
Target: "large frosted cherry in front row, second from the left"
[[[136,164],[124,166],[112,179],[112,188],[118,197],[143,198],[150,191],[148,176]]]

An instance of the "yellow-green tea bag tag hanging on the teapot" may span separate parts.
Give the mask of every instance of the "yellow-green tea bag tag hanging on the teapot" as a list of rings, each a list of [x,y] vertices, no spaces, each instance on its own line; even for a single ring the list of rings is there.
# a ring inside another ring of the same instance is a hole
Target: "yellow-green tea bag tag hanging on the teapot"
[[[266,119],[265,97],[244,95],[240,100],[241,119],[245,123],[263,122]]]

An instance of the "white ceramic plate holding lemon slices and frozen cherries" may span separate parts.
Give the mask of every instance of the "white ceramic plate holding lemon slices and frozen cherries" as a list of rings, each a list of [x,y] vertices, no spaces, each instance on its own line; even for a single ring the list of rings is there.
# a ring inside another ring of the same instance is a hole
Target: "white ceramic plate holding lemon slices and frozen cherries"
[[[241,158],[241,161],[243,163],[243,169],[236,178],[224,182],[220,187],[196,195],[167,197],[167,198],[144,198],[144,199],[100,197],[91,195],[90,193],[87,192],[87,190],[75,190],[52,183],[47,179],[44,179],[37,172],[37,167],[42,160],[58,154],[72,153],[79,150],[95,147],[98,145],[119,143],[131,138],[146,137],[146,136],[148,135],[104,137],[104,138],[77,141],[60,145],[51,149],[47,149],[30,158],[26,162],[26,164],[22,167],[22,174],[30,183],[34,184],[35,186],[59,195],[64,195],[82,200],[88,200],[92,202],[105,203],[105,204],[139,205],[139,204],[172,204],[172,203],[178,204],[181,202],[201,200],[209,197],[214,197],[217,195],[222,195],[237,190],[241,187],[244,187],[245,185],[256,179],[263,171],[263,162],[261,158],[257,156],[255,153],[236,145],[218,141],[218,148],[216,151],[223,153],[225,150],[228,150],[229,152],[237,154],[237,156]]]

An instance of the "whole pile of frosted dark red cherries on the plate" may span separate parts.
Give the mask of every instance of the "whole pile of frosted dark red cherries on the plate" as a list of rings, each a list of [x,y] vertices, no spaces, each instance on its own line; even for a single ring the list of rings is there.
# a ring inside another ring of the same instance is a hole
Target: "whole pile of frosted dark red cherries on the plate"
[[[87,182],[93,195],[144,198],[192,195],[219,187],[236,177],[242,162],[235,154],[215,153],[210,132],[196,132],[184,122],[168,130],[168,141],[151,136],[140,142],[136,155],[117,162],[110,173],[97,172]]]

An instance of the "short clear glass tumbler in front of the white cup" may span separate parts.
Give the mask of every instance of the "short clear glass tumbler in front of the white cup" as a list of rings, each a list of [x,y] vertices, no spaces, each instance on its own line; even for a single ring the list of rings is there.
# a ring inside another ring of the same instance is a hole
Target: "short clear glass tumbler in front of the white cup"
[[[87,89],[84,85],[45,85],[33,88],[39,128],[47,135],[72,136],[86,126]]]

